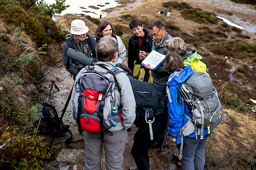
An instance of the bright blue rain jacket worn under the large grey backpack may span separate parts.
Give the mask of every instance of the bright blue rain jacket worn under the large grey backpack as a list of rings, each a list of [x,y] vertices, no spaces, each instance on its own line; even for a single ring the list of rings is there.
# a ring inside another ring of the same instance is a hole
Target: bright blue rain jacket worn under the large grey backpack
[[[168,114],[169,114],[169,127],[168,131],[172,138],[176,138],[176,144],[181,142],[180,129],[187,123],[188,119],[183,115],[182,112],[182,98],[181,95],[178,96],[177,87],[181,86],[181,83],[186,81],[192,74],[192,69],[190,66],[186,66],[181,71],[175,71],[169,76],[167,82],[167,87],[170,90],[171,102],[169,97],[167,97]],[[192,118],[192,112],[189,110],[187,103],[184,102],[184,112]],[[210,129],[212,132],[213,128]],[[204,136],[208,135],[208,130],[204,129]],[[186,136],[184,136],[185,138]],[[188,135],[188,137],[195,137],[195,132]],[[199,139],[200,136],[198,135]]]

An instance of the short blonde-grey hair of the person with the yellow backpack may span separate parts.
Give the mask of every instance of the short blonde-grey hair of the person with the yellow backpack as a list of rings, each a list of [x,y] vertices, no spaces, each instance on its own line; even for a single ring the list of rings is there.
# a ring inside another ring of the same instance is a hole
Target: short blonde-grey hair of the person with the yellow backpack
[[[186,50],[185,42],[179,37],[173,37],[170,40],[166,40],[165,47],[170,52],[181,54]]]

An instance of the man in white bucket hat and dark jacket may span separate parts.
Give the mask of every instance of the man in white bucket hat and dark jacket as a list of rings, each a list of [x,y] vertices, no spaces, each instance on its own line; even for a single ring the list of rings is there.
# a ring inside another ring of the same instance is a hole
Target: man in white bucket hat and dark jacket
[[[83,20],[73,20],[71,22],[71,28],[69,36],[66,38],[66,42],[62,47],[63,63],[68,72],[74,76],[78,74],[78,70],[84,65],[76,60],[72,60],[66,56],[66,52],[69,48],[75,51],[81,52],[83,54],[90,54],[90,52],[95,51],[97,43],[93,36],[87,34],[89,28],[85,25]],[[95,55],[92,56],[96,58]]]

